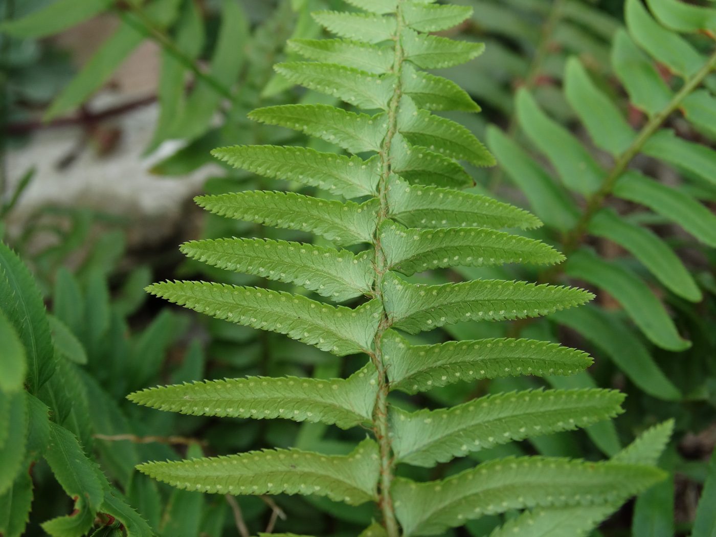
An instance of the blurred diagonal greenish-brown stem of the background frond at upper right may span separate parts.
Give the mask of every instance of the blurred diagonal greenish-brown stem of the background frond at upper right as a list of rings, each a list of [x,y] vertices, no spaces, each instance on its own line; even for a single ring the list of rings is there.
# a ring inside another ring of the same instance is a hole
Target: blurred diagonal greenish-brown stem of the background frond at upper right
[[[639,134],[636,138],[634,138],[632,144],[627,147],[627,150],[624,150],[624,153],[621,153],[621,155],[616,158],[614,166],[612,166],[611,170],[609,170],[609,173],[601,183],[599,190],[587,198],[586,208],[584,209],[584,213],[582,213],[579,218],[579,221],[577,221],[574,228],[567,233],[562,248],[562,253],[565,256],[569,256],[569,254],[575,251],[576,248],[579,248],[582,239],[589,229],[589,223],[591,223],[591,219],[594,217],[594,214],[601,209],[602,205],[604,205],[604,200],[609,194],[611,194],[611,190],[614,189],[616,180],[621,177],[621,174],[624,173],[625,170],[627,170],[627,166],[629,166],[632,159],[642,150],[644,143],[646,143],[647,140],[654,135],[654,132],[659,130],[664,121],[666,121],[667,118],[672,115],[675,110],[677,110],[686,97],[688,97],[697,87],[700,86],[703,80],[708,76],[708,74],[710,74],[710,72],[712,72],[713,69],[715,69],[715,67],[716,52],[709,57],[704,66],[699,69],[693,77],[686,81],[684,86],[679,89],[679,92],[674,95],[669,104],[664,107],[663,110],[655,114],[649,122],[642,127],[642,130],[639,131]],[[563,270],[564,263],[554,266],[552,269],[543,273],[540,280],[551,281],[555,279],[556,276],[561,274]]]

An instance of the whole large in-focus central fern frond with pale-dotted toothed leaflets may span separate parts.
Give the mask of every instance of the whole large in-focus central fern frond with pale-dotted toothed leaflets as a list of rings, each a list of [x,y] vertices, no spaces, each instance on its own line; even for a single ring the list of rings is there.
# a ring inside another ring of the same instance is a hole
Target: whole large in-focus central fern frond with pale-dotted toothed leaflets
[[[374,500],[382,511],[380,531],[388,537],[399,536],[401,526],[404,536],[427,535],[507,508],[586,506],[591,504],[585,498],[592,486],[600,490],[599,502],[618,506],[661,473],[648,466],[527,459],[505,461],[515,470],[510,475],[500,473],[502,463],[494,463],[440,482],[395,480],[399,460],[430,466],[500,442],[589,425],[618,414],[621,396],[607,390],[521,392],[448,410],[412,413],[390,405],[392,390],[415,393],[463,379],[572,374],[591,363],[579,351],[526,340],[411,345],[395,329],[418,334],[465,320],[544,315],[579,306],[592,296],[581,289],[498,280],[424,286],[397,274],[410,276],[458,265],[558,263],[563,258],[539,241],[494,231],[541,225],[535,217],[453,188],[467,185],[456,159],[482,166],[493,165],[494,159],[468,130],[429,110],[479,107],[455,84],[417,69],[446,67],[482,52],[480,44],[424,33],[459,24],[471,10],[425,0],[351,3],[368,13],[315,14],[342,39],[291,45],[317,62],[291,62],[277,69],[292,81],[340,97],[348,105],[379,112],[284,105],[256,110],[251,117],[322,138],[349,153],[373,155],[364,160],[358,155],[273,146],[224,147],[215,152],[237,167],[326,188],[347,200],[249,191],[203,196],[198,203],[231,218],[310,231],[337,247],[364,244],[367,249],[352,253],[235,238],[188,243],[183,251],[221,268],[304,286],[336,301],[364,296],[364,304],[333,306],[300,294],[204,282],[165,282],[149,290],[195,311],[287,334],[338,356],[363,352],[369,364],[345,380],[250,377],[158,387],[130,399],[189,414],[283,417],[346,428],[365,424],[372,438],[345,457],[265,450],[228,458],[148,463],[140,470],[191,490],[313,493],[350,504]],[[369,199],[363,203],[348,199],[357,196]],[[294,460],[298,463],[292,465]],[[336,472],[326,470],[326,465],[328,469],[335,465]],[[521,475],[523,468],[531,470],[529,475]],[[551,473],[551,468],[556,470]],[[569,485],[569,498],[513,498],[514,486],[534,495],[555,475]],[[471,487],[462,494],[455,492],[453,483],[473,478]],[[414,507],[427,501],[427,490],[435,506],[418,513]],[[483,505],[485,490],[498,490],[504,501]]]

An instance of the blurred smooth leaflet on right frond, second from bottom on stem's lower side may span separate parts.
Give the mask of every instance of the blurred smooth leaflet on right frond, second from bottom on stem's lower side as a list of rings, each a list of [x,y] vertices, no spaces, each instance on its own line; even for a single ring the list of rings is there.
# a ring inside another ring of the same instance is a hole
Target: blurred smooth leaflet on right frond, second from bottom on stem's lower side
[[[647,338],[662,349],[677,352],[691,347],[691,342],[679,336],[659,299],[631,271],[604,261],[593,251],[583,248],[567,260],[565,272],[614,296]]]

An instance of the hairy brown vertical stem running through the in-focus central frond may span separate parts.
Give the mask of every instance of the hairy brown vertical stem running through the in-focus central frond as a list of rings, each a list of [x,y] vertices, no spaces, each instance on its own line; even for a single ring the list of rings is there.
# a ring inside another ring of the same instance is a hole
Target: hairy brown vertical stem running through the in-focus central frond
[[[382,143],[379,153],[381,159],[381,177],[378,185],[378,198],[380,200],[380,208],[378,211],[377,226],[374,233],[374,269],[375,277],[375,294],[382,299],[382,281],[387,271],[385,263],[385,254],[380,243],[379,228],[383,221],[388,218],[389,207],[387,202],[388,181],[390,179],[390,146],[393,138],[397,134],[397,115],[400,107],[400,97],[402,97],[402,85],[400,74],[402,72],[403,50],[400,44],[400,34],[402,31],[402,13],[400,2],[397,9],[397,30],[395,32],[395,63],[393,64],[393,72],[397,77],[397,85],[395,92],[390,100],[387,110],[388,130]],[[400,531],[395,519],[395,511],[393,509],[392,498],[390,497],[390,484],[393,478],[393,457],[390,447],[390,435],[388,430],[388,392],[390,387],[387,381],[387,370],[382,359],[381,344],[384,332],[390,328],[390,319],[387,313],[383,314],[383,321],[380,323],[374,339],[374,356],[372,357],[375,367],[378,369],[378,393],[373,415],[373,430],[378,441],[380,450],[380,508],[383,512],[383,522],[388,537],[398,537]]]

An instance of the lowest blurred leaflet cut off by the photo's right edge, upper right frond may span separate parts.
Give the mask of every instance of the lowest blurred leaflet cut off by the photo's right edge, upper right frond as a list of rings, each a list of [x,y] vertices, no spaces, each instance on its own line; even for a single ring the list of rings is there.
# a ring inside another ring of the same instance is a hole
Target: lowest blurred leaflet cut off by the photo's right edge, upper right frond
[[[716,248],[716,216],[681,190],[632,170],[616,182],[614,195],[647,205],[655,213],[682,226],[703,243]]]

